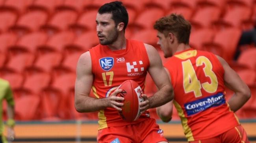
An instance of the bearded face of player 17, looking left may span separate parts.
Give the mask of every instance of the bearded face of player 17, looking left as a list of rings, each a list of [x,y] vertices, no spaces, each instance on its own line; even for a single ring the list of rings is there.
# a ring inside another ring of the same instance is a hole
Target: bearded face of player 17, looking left
[[[111,13],[97,14],[97,35],[102,45],[111,45],[118,38],[118,31]]]

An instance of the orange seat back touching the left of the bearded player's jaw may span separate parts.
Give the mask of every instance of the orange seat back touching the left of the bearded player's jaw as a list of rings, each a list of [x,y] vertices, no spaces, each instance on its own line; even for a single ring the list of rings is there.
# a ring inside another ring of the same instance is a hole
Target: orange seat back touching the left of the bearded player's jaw
[[[96,31],[88,31],[78,36],[70,45],[70,48],[74,47],[76,49],[83,49],[83,51],[85,52],[98,44],[99,39]]]

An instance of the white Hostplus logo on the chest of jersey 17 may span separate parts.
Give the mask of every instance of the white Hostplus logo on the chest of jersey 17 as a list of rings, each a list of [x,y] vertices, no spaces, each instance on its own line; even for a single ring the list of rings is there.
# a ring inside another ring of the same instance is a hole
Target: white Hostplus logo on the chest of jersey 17
[[[139,61],[138,63],[136,61],[134,62],[128,62],[126,63],[127,71],[132,72],[128,73],[128,76],[139,76],[144,74],[144,67],[141,67],[139,65],[143,65],[142,61]]]

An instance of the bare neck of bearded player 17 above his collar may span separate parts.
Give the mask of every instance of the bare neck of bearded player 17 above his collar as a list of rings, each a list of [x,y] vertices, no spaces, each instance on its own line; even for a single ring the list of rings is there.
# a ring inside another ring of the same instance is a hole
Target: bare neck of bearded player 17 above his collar
[[[126,49],[126,38],[124,35],[119,35],[117,40],[112,43],[111,45],[108,45],[109,49],[111,50],[122,50]]]

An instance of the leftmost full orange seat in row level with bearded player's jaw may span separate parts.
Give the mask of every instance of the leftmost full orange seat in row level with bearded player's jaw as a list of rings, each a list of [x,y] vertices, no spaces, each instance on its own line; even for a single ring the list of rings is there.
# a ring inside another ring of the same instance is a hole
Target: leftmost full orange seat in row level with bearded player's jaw
[[[9,49],[24,49],[28,52],[36,52],[40,45],[45,44],[47,35],[43,32],[34,32],[22,36],[16,43],[9,47]]]

